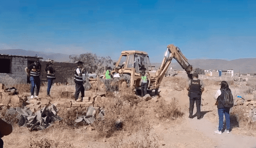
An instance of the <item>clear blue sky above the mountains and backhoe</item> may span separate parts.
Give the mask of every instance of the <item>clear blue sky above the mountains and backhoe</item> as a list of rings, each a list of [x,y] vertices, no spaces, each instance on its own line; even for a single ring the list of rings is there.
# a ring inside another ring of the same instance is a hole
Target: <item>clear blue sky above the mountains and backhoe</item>
[[[1,0],[0,49],[161,62],[168,44],[188,59],[256,57],[255,0]]]

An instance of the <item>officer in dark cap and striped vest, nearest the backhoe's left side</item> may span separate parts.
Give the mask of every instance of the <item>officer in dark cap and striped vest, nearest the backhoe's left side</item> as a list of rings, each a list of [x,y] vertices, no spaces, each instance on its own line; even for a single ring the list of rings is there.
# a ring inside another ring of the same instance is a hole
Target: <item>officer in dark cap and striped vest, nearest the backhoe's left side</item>
[[[83,99],[84,97],[84,83],[83,83],[83,77],[82,73],[84,72],[83,67],[83,62],[79,61],[77,62],[77,68],[75,70],[75,75],[74,75],[74,81],[76,83],[76,92],[75,92],[75,100],[78,101],[78,96],[79,93],[81,92],[81,97]]]

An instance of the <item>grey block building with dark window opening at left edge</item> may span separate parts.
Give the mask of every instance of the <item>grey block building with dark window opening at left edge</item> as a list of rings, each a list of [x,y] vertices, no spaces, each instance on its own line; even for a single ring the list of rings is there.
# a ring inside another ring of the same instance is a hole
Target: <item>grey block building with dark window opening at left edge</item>
[[[7,74],[14,79],[19,78],[24,82],[29,81],[24,69],[40,59],[42,57],[0,54],[0,74]]]

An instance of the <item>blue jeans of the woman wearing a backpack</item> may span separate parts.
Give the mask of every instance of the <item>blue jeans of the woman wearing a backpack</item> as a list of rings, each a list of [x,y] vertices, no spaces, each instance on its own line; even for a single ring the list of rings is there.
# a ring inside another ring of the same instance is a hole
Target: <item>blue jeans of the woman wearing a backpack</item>
[[[226,130],[230,130],[230,116],[229,116],[229,110],[230,108],[225,107],[222,109],[218,109],[218,114],[219,114],[219,131],[222,130],[222,126],[223,126],[223,114],[225,114],[225,118],[226,118]]]

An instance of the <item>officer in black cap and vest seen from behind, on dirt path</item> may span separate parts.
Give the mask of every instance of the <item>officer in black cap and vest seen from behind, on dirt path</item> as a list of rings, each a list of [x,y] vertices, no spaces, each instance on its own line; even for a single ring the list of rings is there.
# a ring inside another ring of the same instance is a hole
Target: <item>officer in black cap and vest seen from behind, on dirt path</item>
[[[198,79],[198,74],[196,72],[193,73],[193,79],[188,81],[187,85],[188,96],[189,96],[189,118],[193,116],[194,103],[196,101],[196,116],[197,119],[201,119],[201,95],[204,91],[204,85],[201,80]]]

